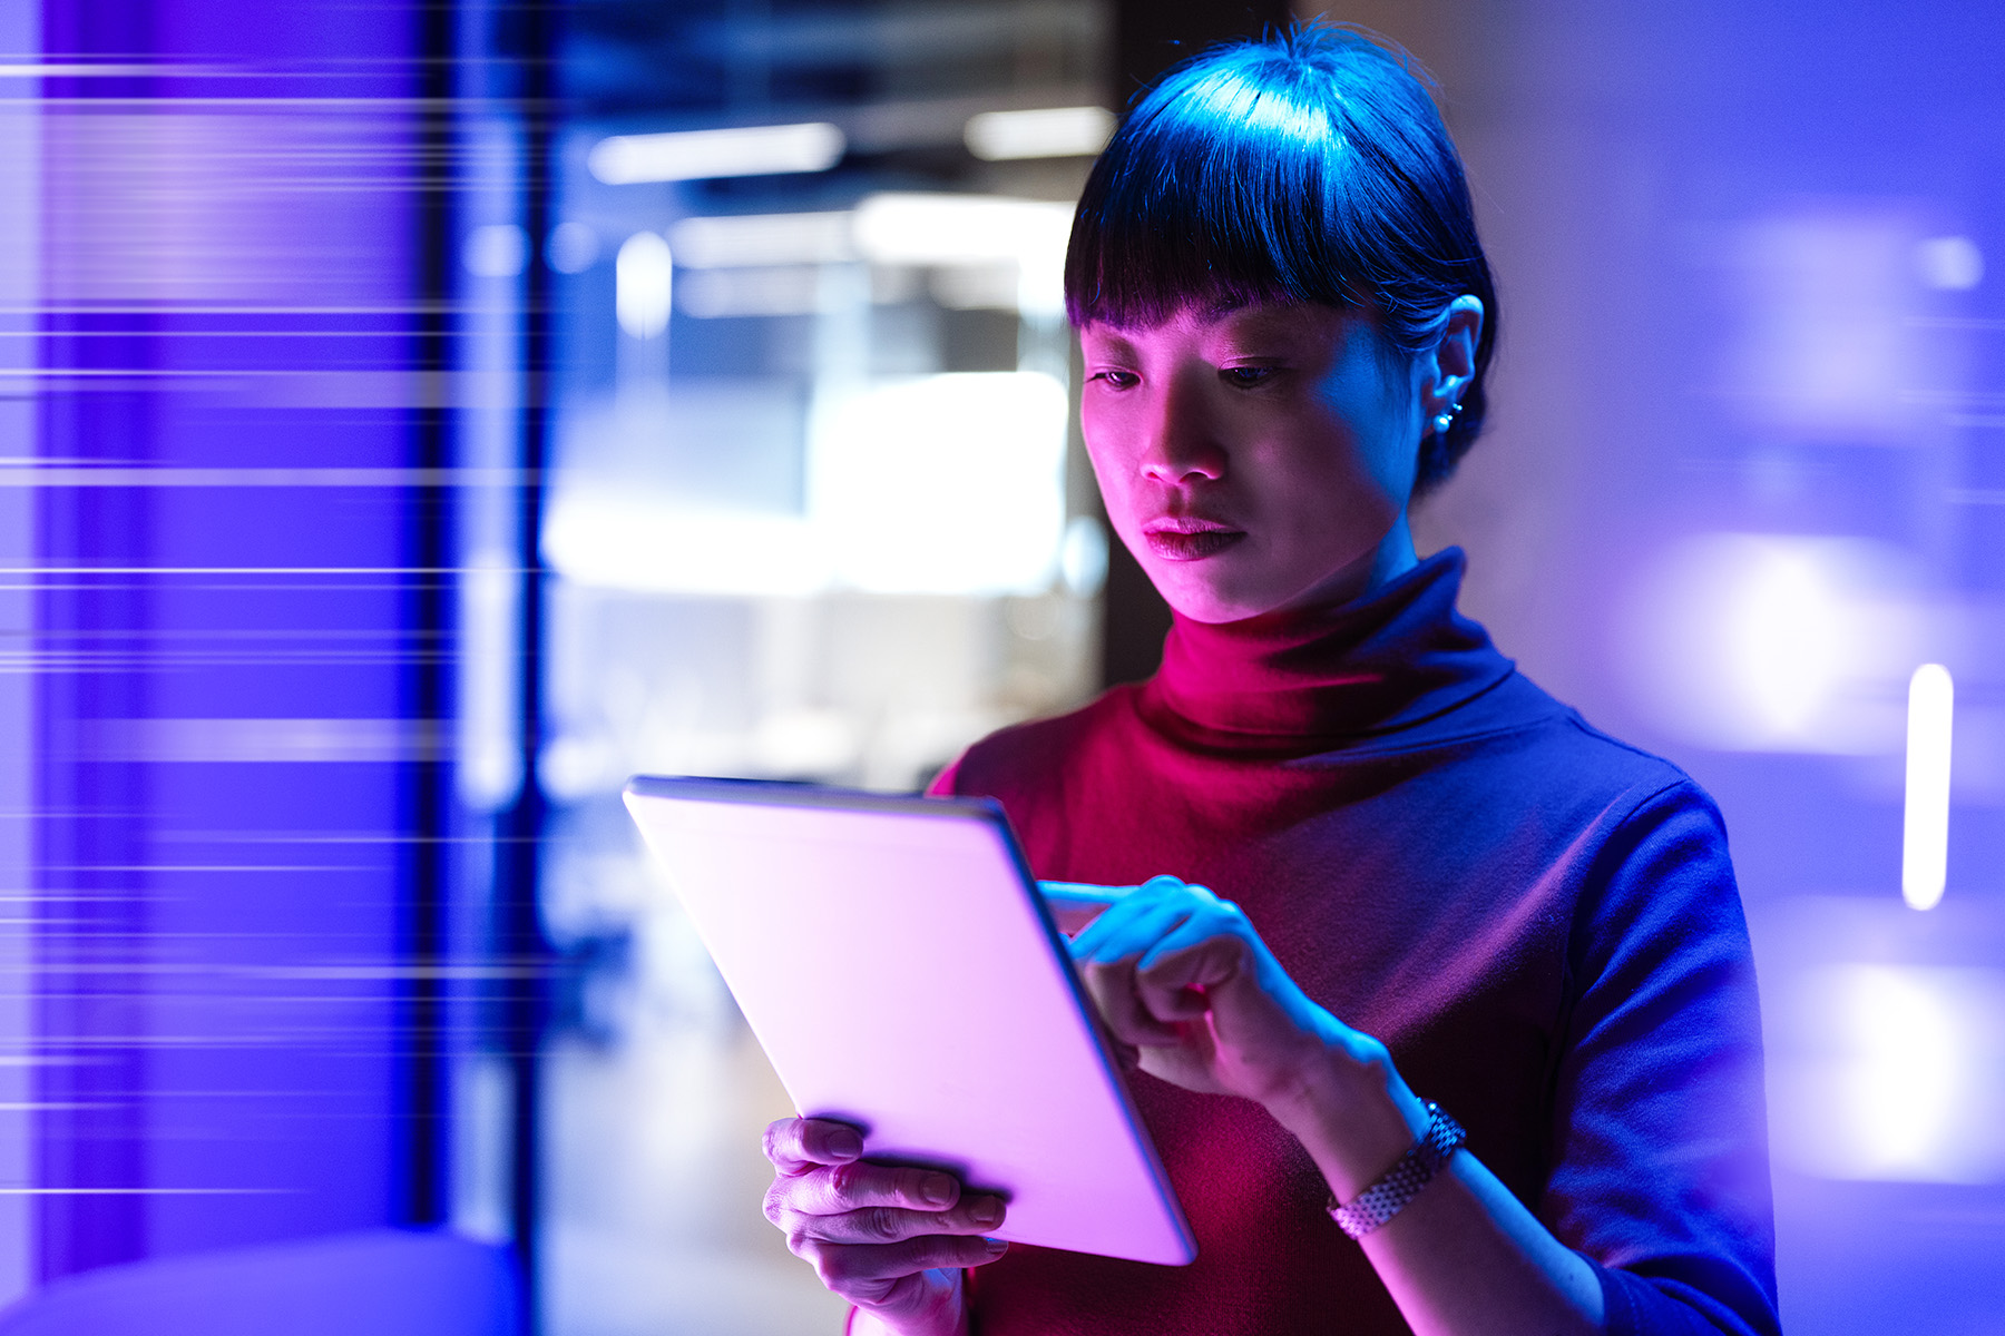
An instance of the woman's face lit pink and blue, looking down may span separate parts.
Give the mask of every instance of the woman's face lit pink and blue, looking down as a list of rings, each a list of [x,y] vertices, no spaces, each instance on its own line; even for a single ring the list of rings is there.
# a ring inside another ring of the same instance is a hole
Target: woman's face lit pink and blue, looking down
[[[1237,621],[1363,593],[1412,561],[1420,361],[1311,302],[1087,324],[1081,427],[1115,533],[1171,607]]]

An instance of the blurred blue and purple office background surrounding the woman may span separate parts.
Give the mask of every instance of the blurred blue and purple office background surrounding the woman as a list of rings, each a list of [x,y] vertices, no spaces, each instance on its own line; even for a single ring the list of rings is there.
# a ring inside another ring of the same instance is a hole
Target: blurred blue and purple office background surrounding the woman
[[[2005,1330],[2005,12],[1297,14],[1440,76],[1500,274],[1424,547],[1724,807],[1788,1330]],[[838,1330],[618,789],[912,789],[1151,671],[1071,200],[1287,18],[0,0],[0,1300]]]

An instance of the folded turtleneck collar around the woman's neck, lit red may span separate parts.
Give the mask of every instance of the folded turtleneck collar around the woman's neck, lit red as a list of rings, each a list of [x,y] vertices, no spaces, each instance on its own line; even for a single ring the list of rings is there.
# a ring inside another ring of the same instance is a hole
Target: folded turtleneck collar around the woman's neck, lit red
[[[1207,751],[1311,753],[1426,723],[1512,675],[1456,611],[1460,547],[1361,599],[1207,625],[1175,617],[1137,707]]]

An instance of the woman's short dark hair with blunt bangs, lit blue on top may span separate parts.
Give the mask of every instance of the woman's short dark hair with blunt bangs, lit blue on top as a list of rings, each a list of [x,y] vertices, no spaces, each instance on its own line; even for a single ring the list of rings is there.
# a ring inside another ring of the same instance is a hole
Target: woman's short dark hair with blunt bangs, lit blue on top
[[[1476,375],[1454,425],[1420,445],[1414,491],[1438,487],[1484,425],[1498,298],[1430,88],[1406,52],[1321,22],[1183,62],[1093,164],[1065,256],[1073,324],[1311,300],[1367,310],[1414,355],[1472,294]]]

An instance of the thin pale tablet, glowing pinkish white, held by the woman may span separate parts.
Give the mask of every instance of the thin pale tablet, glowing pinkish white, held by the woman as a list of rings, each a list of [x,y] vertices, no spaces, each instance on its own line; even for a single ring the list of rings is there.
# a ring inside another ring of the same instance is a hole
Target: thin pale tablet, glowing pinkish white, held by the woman
[[[996,803],[646,777],[626,803],[800,1114],[998,1192],[998,1238],[1197,1256]]]

